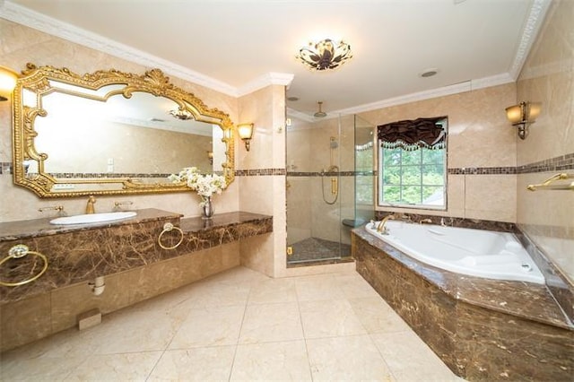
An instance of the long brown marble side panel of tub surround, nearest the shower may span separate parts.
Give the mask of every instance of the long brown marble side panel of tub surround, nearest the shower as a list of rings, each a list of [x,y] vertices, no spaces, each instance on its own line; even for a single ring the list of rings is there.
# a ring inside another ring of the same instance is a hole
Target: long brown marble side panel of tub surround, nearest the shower
[[[430,282],[352,235],[357,272],[455,372],[455,302]]]

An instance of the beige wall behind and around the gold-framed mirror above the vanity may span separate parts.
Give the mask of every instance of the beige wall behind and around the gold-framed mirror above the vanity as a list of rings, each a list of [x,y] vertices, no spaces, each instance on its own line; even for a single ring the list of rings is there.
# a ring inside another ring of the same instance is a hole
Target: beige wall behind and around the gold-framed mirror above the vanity
[[[151,68],[100,53],[64,39],[33,30],[14,22],[0,19],[0,61],[2,65],[20,71],[26,63],[36,65],[53,65],[68,67],[75,73],[92,73],[100,69],[115,68],[122,72],[143,74]],[[233,122],[238,120],[238,100],[228,95],[206,89],[191,82],[170,76],[170,81],[185,91],[194,93],[209,108],[225,110]],[[10,102],[0,102],[0,162],[12,162],[12,122]],[[238,143],[239,144],[239,143]],[[204,152],[202,152],[204,153]],[[281,166],[284,167],[284,166]],[[172,170],[172,169],[170,169]],[[4,172],[4,171],[3,171]],[[214,204],[216,213],[239,210],[238,181],[226,189],[222,195],[216,195]],[[0,219],[18,221],[50,216],[50,213],[39,213],[40,207],[62,204],[68,214],[83,213],[83,199],[39,199],[22,187],[13,186],[9,174],[0,174]],[[184,213],[187,216],[201,214],[199,196],[195,193],[177,193],[169,195],[134,195],[134,196],[101,196],[96,204],[97,212],[109,212],[116,201],[132,201],[130,208],[158,208],[170,212]]]

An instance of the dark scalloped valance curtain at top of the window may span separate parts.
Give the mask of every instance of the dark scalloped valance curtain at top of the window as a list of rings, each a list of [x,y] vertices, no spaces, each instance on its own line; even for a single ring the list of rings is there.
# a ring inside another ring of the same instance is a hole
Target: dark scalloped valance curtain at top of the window
[[[377,126],[377,136],[382,147],[404,150],[442,149],[447,132],[443,121],[447,117],[418,118]]]

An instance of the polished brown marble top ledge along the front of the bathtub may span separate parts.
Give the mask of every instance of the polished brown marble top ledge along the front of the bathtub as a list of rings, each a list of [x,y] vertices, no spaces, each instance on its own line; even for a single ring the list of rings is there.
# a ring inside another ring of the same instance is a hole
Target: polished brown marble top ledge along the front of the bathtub
[[[367,241],[370,246],[386,252],[414,273],[418,273],[424,280],[436,285],[455,300],[574,331],[574,326],[546,285],[452,273],[405,255],[395,247],[375,238],[364,228],[352,232]]]

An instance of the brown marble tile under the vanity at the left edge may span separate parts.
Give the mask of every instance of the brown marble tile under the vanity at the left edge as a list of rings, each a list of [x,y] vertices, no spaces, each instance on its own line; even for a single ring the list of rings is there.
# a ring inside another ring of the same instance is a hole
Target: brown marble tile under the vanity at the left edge
[[[0,352],[51,334],[50,295],[0,305]]]

